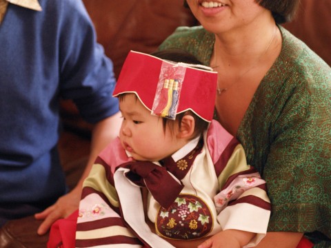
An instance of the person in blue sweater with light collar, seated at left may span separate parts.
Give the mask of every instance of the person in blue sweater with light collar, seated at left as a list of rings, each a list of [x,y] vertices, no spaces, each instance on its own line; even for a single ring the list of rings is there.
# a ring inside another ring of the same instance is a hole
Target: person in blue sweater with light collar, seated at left
[[[1,0],[0,21],[0,226],[37,213],[45,234],[77,209],[90,165],[119,132],[112,61],[80,0]],[[61,98],[94,123],[88,165],[71,192],[57,151]]]

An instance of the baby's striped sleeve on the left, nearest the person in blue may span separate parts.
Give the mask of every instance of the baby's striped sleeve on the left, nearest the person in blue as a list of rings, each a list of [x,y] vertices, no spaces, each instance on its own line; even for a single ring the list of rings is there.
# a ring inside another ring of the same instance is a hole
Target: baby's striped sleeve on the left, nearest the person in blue
[[[97,158],[83,183],[76,247],[142,247],[120,216],[109,165]]]

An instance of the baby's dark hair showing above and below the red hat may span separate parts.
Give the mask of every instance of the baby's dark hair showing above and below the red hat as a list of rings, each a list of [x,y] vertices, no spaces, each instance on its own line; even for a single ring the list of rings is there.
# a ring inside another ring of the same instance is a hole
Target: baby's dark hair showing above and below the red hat
[[[173,61],[173,62],[202,65],[202,63],[195,56],[179,49],[161,50],[161,51],[153,52],[151,55],[156,56],[160,59]],[[185,112],[181,112],[177,114],[175,120],[163,118],[163,129],[165,130],[167,124],[170,126],[170,130],[174,129],[174,125],[176,123],[177,125],[179,125],[179,127],[181,127],[181,120],[185,115],[190,115],[194,118],[194,124],[195,124],[194,133],[191,139],[196,138],[203,131],[207,130],[209,123],[203,120],[202,118],[200,118],[199,116],[197,116],[197,114],[194,114],[194,112],[192,112],[191,110],[187,110]]]

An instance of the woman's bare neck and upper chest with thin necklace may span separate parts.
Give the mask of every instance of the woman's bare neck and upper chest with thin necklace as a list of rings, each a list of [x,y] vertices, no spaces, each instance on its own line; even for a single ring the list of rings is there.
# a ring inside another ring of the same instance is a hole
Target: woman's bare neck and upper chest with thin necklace
[[[232,135],[263,76],[281,52],[281,32],[273,19],[259,28],[217,34],[210,66],[219,73],[217,115]]]

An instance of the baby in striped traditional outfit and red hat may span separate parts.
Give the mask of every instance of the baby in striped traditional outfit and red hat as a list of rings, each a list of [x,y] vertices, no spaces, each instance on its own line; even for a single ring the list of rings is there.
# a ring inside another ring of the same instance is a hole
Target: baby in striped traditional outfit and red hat
[[[179,51],[128,54],[114,90],[121,131],[83,185],[76,247],[253,247],[265,236],[265,181],[212,121],[209,69]]]

